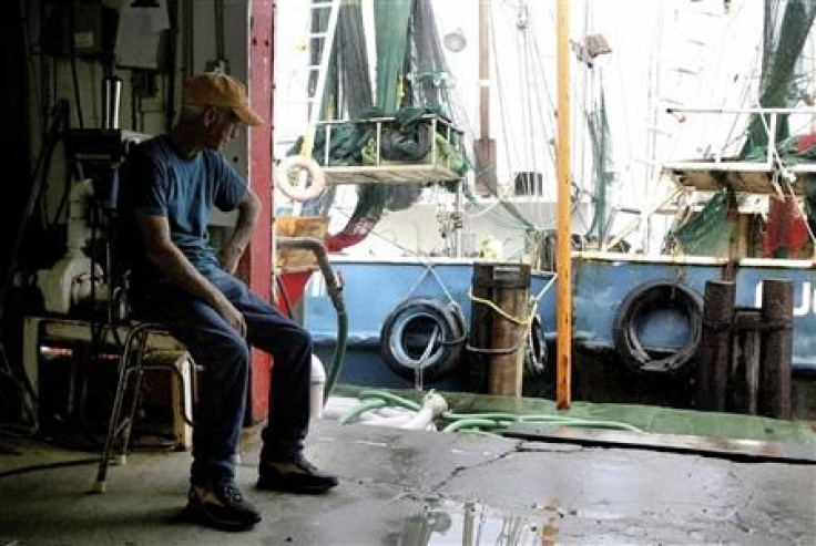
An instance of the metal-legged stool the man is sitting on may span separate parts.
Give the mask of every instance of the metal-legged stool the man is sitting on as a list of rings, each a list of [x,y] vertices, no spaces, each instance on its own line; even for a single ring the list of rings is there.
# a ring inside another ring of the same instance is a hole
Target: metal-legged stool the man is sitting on
[[[192,416],[187,415],[186,412],[186,393],[185,382],[182,371],[178,369],[176,363],[151,363],[145,361],[147,338],[151,333],[169,334],[167,329],[157,323],[152,322],[139,322],[130,328],[128,334],[124,338],[122,352],[119,358],[119,381],[116,382],[116,393],[113,399],[113,409],[111,410],[111,419],[108,424],[108,435],[105,436],[105,445],[102,451],[102,459],[99,463],[99,471],[96,473],[96,482],[93,491],[96,493],[104,493],[106,490],[105,478],[108,476],[108,466],[111,460],[111,452],[116,440],[122,437],[121,452],[118,456],[118,464],[125,463],[125,454],[128,452],[128,443],[130,442],[131,427],[133,424],[133,418],[136,413],[136,404],[139,402],[139,393],[142,387],[142,375],[145,370],[163,370],[170,371],[175,374],[178,379],[178,385],[181,390],[181,408],[182,416],[188,425],[193,425]],[[195,370],[195,363],[192,362],[192,370]],[[122,415],[124,408],[125,393],[128,392],[131,375],[135,374],[135,381],[133,382],[132,399],[128,414]],[[195,378],[191,380],[191,395],[193,401],[195,400]]]

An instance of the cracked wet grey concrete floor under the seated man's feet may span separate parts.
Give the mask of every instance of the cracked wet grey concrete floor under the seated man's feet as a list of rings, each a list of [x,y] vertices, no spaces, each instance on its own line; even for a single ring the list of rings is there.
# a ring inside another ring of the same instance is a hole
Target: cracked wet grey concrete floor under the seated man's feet
[[[319,421],[307,452],[341,483],[295,496],[254,488],[246,436],[238,482],[264,514],[251,532],[185,522],[190,455],[153,452],[112,467],[103,495],[92,465],[1,477],[0,545],[816,544],[812,465]],[[19,444],[0,473],[82,456]]]

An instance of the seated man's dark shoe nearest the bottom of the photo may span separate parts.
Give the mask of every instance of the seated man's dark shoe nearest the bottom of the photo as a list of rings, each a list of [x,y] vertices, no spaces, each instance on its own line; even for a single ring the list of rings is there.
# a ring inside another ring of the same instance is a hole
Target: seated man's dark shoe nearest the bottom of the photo
[[[205,525],[223,530],[248,530],[261,521],[258,509],[244,499],[231,477],[193,484],[187,511]]]

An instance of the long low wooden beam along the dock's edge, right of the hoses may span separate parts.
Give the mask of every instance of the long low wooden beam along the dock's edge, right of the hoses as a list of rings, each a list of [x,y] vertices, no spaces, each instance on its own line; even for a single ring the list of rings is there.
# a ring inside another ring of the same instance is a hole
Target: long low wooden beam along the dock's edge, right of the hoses
[[[502,434],[537,442],[687,453],[751,462],[816,464],[816,447],[813,445],[764,440],[611,431],[545,423],[517,423]]]

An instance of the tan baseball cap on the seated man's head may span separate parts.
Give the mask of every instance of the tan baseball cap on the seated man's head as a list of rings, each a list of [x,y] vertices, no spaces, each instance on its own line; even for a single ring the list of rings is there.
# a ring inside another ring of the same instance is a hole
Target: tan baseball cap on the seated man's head
[[[182,103],[227,107],[247,125],[264,123],[264,119],[249,106],[244,84],[220,72],[204,72],[187,80],[182,92]]]

